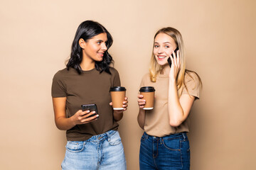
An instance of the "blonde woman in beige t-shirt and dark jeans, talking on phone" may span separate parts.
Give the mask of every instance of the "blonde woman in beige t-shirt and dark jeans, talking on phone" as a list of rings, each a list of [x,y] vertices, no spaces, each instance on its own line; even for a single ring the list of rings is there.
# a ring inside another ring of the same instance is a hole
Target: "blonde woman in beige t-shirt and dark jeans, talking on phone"
[[[154,86],[156,90],[150,111],[143,109],[146,101],[138,95],[138,123],[145,131],[140,169],[190,169],[188,115],[199,98],[201,79],[186,69],[183,40],[175,28],[162,28],[154,36],[149,74],[144,75],[140,86]]]

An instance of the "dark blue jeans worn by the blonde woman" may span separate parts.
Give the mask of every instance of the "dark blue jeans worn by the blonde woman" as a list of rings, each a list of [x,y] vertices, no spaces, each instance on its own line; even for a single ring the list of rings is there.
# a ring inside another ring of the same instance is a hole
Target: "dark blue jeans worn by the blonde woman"
[[[190,169],[190,147],[186,132],[153,137],[142,135],[139,169]]]

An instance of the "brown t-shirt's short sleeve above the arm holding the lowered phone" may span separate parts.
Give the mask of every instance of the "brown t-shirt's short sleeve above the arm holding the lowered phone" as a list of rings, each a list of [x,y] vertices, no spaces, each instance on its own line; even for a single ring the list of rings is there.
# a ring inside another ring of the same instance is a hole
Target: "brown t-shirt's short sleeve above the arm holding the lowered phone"
[[[63,81],[64,80],[61,72],[57,72],[53,77],[53,84],[51,89],[52,97],[57,98],[67,96],[66,88]]]

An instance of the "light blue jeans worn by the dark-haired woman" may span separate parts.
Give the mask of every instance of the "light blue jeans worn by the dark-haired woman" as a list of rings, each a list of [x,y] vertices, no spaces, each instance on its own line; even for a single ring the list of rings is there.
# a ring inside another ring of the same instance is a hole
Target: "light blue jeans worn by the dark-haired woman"
[[[124,147],[116,130],[85,141],[68,141],[63,170],[126,169]]]

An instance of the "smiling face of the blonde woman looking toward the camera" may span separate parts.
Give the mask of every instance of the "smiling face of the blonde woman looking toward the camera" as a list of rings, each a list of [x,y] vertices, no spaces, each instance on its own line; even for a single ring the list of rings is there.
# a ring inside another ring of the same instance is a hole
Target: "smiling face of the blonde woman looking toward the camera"
[[[167,64],[167,60],[177,47],[176,42],[171,36],[165,33],[159,33],[154,39],[154,57],[159,65],[164,66]]]

